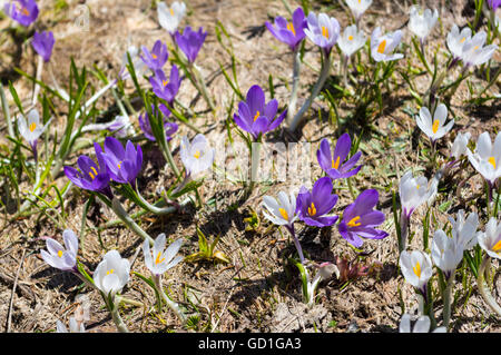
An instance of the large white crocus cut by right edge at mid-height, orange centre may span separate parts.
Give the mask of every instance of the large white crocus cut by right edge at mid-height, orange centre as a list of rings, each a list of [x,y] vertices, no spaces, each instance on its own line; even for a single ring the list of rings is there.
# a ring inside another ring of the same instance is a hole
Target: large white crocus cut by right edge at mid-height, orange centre
[[[489,132],[481,134],[474,152],[468,149],[466,155],[473,168],[493,186],[501,176],[501,132],[495,136],[494,145],[491,142]]]

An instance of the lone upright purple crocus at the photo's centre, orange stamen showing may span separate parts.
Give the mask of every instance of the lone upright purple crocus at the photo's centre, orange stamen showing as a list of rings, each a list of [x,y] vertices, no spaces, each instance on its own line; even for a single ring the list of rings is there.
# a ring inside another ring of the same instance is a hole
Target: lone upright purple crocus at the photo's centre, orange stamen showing
[[[275,119],[277,109],[278,101],[273,99],[266,103],[263,89],[255,85],[247,91],[246,101],[238,103],[238,115],[235,114],[234,119],[238,127],[257,140],[262,134],[274,130],[284,120],[287,110]]]

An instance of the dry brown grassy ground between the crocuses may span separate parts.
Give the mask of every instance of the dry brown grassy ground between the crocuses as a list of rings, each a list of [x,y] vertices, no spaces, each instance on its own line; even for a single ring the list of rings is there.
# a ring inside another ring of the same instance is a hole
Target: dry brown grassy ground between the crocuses
[[[50,65],[46,65],[42,79],[52,82],[52,75],[57,82],[63,86],[69,79],[70,59],[73,58],[77,67],[94,66],[104,70],[108,78],[115,77],[120,70],[121,58],[129,45],[151,47],[157,39],[169,41],[168,34],[157,22],[156,10],[148,0],[88,0],[38,1],[41,9],[37,29],[50,29],[56,34],[56,47]],[[288,1],[295,8],[293,1]],[[385,30],[404,30],[404,42],[410,42],[411,34],[406,30],[409,3],[399,4],[396,1],[374,0],[362,21],[365,33],[371,33],[375,26]],[[454,1],[423,1],[428,7],[438,7],[441,20],[429,39],[429,53],[440,46],[440,53],[446,51],[444,38],[452,26],[464,26],[471,21],[474,12],[472,4],[464,0]],[[76,27],[76,8],[85,3],[90,9],[88,31]],[[216,21],[220,21],[233,42],[233,50],[238,59],[238,82],[243,92],[255,83],[268,89],[268,77],[273,76],[275,97],[285,107],[289,95],[292,55],[288,48],[278,42],[263,27],[265,21],[275,16],[288,17],[282,1],[187,1],[188,17],[186,24],[194,28],[200,26],[208,31],[208,37],[197,59],[197,66],[209,86],[209,91],[216,101],[216,111],[206,110],[202,98],[196,98],[196,91],[186,80],[183,83],[178,100],[190,106],[196,112],[191,118],[214,144],[228,145],[225,120],[233,116],[236,102],[230,87],[222,75],[219,65],[230,72],[230,61],[227,52],[216,39]],[[344,6],[343,6],[344,7]],[[350,23],[347,11],[342,6],[327,1],[315,1],[314,11],[326,11],[337,18],[341,27]],[[452,12],[450,9],[453,9]],[[0,28],[10,26],[9,19],[0,20]],[[20,40],[17,32],[2,32],[0,42],[0,78],[3,83],[13,82],[23,105],[29,107],[32,85],[26,78],[12,70],[13,67],[35,75],[37,68],[36,55],[29,42]],[[416,61],[411,48],[406,47],[405,60]],[[412,58],[411,58],[412,57]],[[320,68],[318,53],[311,42],[306,45],[305,61],[311,68],[304,66],[299,90],[299,105],[307,97],[311,85],[316,78],[315,68]],[[499,63],[500,51],[494,56]],[[335,61],[333,75],[337,76],[338,61]],[[51,75],[52,72],[52,75]],[[459,73],[451,72],[451,77]],[[208,179],[200,194],[206,205],[200,209],[188,207],[183,211],[156,217],[147,215],[139,220],[147,233],[156,237],[165,233],[169,240],[184,238],[180,249],[183,255],[198,250],[198,227],[213,239],[220,235],[217,249],[222,250],[230,260],[229,264],[215,263],[183,263],[170,269],[164,284],[168,285],[170,296],[185,305],[194,314],[198,314],[198,322],[193,324],[190,331],[197,332],[396,332],[400,318],[405,313],[416,313],[418,303],[412,286],[405,283],[397,267],[397,241],[392,215],[392,190],[395,190],[399,178],[410,166],[420,168],[429,177],[431,171],[424,169],[422,157],[418,150],[428,147],[428,140],[416,128],[415,120],[409,111],[418,111],[415,102],[409,95],[409,88],[397,75],[392,80],[397,89],[384,98],[385,109],[376,117],[374,126],[376,134],[362,132],[360,127],[350,121],[356,109],[346,100],[338,102],[338,126],[331,124],[328,106],[325,100],[316,100],[307,115],[307,122],[293,136],[283,130],[271,135],[268,141],[308,141],[311,151],[312,177],[320,177],[321,170],[316,165],[315,151],[324,137],[337,138],[344,130],[353,135],[362,135],[361,149],[364,167],[353,179],[356,189],[376,188],[380,191],[379,209],[386,214],[386,221],[382,229],[390,236],[383,240],[370,240],[363,246],[365,256],[361,257],[364,265],[371,266],[371,273],[347,284],[335,277],[323,282],[318,288],[316,305],[307,308],[302,302],[301,280],[297,268],[287,262],[294,253],[294,245],[285,230],[272,227],[262,215],[259,206],[264,195],[276,196],[279,189],[288,189],[294,181],[286,180],[275,184],[259,184],[252,196],[244,198],[242,185],[229,181]],[[423,76],[418,83],[420,93],[428,88],[430,77]],[[91,78],[96,88],[102,86]],[[482,73],[472,76],[473,86],[485,85]],[[145,87],[148,85],[145,80]],[[126,91],[134,91],[129,82]],[[499,92],[499,81],[490,88],[491,93]],[[267,92],[269,97],[269,92]],[[195,98],[195,100],[194,100]],[[452,98],[452,115],[455,117],[455,132],[470,131],[472,137],[488,130],[493,137],[501,128],[499,100],[490,100],[483,106],[469,106],[468,86],[463,82]],[[114,105],[111,95],[107,95],[98,102],[99,109],[105,112]],[[228,107],[233,105],[233,109]],[[12,103],[12,108],[14,105]],[[139,111],[140,107],[136,107]],[[115,110],[115,111],[114,111]],[[57,108],[58,116],[53,127],[62,132],[67,107]],[[111,108],[106,115],[115,115],[117,109]],[[320,116],[318,112],[322,115]],[[137,115],[136,115],[137,116]],[[2,116],[3,118],[3,116]],[[323,119],[322,119],[323,118]],[[102,120],[107,120],[104,114]],[[132,121],[138,129],[137,119]],[[1,120],[3,126],[4,120]],[[1,127],[1,144],[6,145],[6,127]],[[180,125],[173,146],[178,147],[181,135],[193,132]],[[439,150],[446,156],[453,137],[449,135],[439,144]],[[90,136],[89,136],[90,137]],[[174,175],[164,168],[161,154],[154,145],[145,145],[144,170],[138,185],[144,196],[149,200],[158,198],[158,191],[168,189],[174,183]],[[82,150],[80,154],[91,150]],[[75,165],[78,155],[72,155],[67,165]],[[178,150],[175,159],[180,166]],[[230,159],[228,157],[227,159]],[[458,172],[454,179],[468,177],[472,169]],[[65,175],[56,177],[55,183],[63,186],[67,183]],[[455,197],[450,185],[444,184],[445,194],[440,196],[433,211],[436,225],[443,225],[449,214],[455,213],[463,206],[475,210],[475,196],[482,194],[482,180],[474,176],[466,183],[463,200]],[[21,189],[27,189],[27,184]],[[445,211],[441,206],[448,200],[450,193],[452,205]],[[345,185],[338,189],[340,201],[336,211],[352,201]],[[65,218],[66,228],[80,230],[84,206],[89,195],[73,187],[67,196]],[[464,203],[464,200],[466,203]],[[468,205],[464,205],[468,204]],[[136,211],[135,206],[128,205]],[[480,209],[480,208],[479,208]],[[246,230],[245,218],[252,210],[258,213],[259,227],[256,230]],[[422,246],[421,220],[426,213],[419,209],[412,218],[412,230],[415,236],[411,248]],[[86,328],[89,332],[115,332],[109,313],[104,308],[102,299],[97,292],[88,287],[80,287],[81,282],[71,274],[62,273],[49,267],[40,257],[40,250],[46,247],[43,237],[55,237],[61,240],[62,226],[55,224],[53,219],[35,214],[26,218],[12,218],[7,213],[1,221],[0,237],[0,329],[2,332],[51,332],[56,322],[62,319],[67,323],[78,302],[78,295],[85,295],[90,304],[89,319]],[[81,240],[79,258],[89,270],[94,270],[106,250],[118,249],[122,257],[129,258],[131,269],[148,275],[144,265],[141,240],[122,225],[100,228],[115,216],[106,206],[95,203],[87,214],[85,239]],[[100,228],[100,229],[98,229]],[[434,228],[432,228],[434,229]],[[341,237],[336,228],[301,228],[299,236],[307,257],[317,263],[336,263],[337,257],[355,259],[355,252]],[[494,263],[497,266],[497,263]],[[494,277],[498,302],[501,292],[499,273]],[[16,287],[14,287],[16,285]],[[12,293],[12,289],[16,292]],[[471,289],[471,294],[466,290]],[[153,306],[155,294],[139,277],[132,275],[131,280],[122,294],[130,299],[139,300],[145,307],[125,305],[120,313],[131,332],[184,332],[183,325],[168,309],[158,313]],[[452,315],[453,332],[500,332],[501,323],[491,316],[489,307],[479,296],[477,284],[471,276],[458,275],[454,289],[455,307]],[[441,303],[435,304],[436,317],[441,317]],[[198,313],[196,313],[196,310]]]

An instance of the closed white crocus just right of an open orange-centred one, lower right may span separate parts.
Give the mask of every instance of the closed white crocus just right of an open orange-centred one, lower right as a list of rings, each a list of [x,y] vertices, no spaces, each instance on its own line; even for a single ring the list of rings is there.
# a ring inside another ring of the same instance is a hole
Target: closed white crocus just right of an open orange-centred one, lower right
[[[463,259],[463,246],[458,238],[449,238],[441,229],[433,235],[432,259],[448,279]]]

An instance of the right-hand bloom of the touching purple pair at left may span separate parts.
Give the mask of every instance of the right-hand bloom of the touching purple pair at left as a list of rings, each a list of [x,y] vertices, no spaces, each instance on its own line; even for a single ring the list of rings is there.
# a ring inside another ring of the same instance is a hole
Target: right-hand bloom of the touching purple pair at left
[[[117,138],[106,137],[102,159],[112,180],[136,186],[136,177],[143,165],[143,150],[139,145],[136,149],[134,144],[128,140],[124,149]]]

